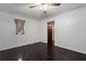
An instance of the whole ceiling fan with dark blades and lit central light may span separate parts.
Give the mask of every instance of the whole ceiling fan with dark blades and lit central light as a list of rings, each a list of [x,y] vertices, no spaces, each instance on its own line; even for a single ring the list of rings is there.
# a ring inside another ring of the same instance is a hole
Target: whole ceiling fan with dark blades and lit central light
[[[28,8],[29,9],[34,9],[34,8],[36,8],[36,7],[42,7],[44,8],[44,13],[47,13],[47,8],[48,7],[60,7],[61,5],[61,3],[34,3],[34,4],[32,4],[32,5],[29,5]]]

